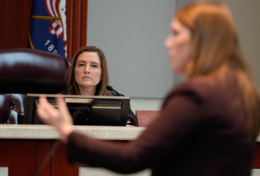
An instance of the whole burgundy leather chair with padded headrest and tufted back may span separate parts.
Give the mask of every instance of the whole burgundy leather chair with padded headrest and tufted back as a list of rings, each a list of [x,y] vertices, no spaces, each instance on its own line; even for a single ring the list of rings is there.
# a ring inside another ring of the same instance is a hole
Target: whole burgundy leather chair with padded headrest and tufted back
[[[17,124],[27,93],[56,94],[66,89],[70,60],[30,48],[0,48],[0,124]]]

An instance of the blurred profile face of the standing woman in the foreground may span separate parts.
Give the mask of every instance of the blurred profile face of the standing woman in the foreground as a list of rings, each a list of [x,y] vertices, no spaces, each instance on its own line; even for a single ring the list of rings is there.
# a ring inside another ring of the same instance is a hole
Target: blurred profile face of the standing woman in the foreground
[[[191,31],[177,19],[170,25],[171,33],[165,40],[171,69],[175,73],[185,73],[191,56]]]

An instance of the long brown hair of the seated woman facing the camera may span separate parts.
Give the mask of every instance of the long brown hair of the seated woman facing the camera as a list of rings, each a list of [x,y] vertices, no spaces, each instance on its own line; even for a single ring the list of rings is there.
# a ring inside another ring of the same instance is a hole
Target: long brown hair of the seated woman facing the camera
[[[68,95],[80,95],[78,84],[75,80],[74,70],[77,63],[78,56],[83,52],[96,52],[101,62],[101,80],[96,87],[96,95],[111,96],[111,92],[106,89],[107,85],[110,85],[108,77],[108,65],[103,51],[94,46],[87,46],[80,48],[77,53],[71,58],[71,66],[68,67],[65,75],[65,81],[67,85]]]

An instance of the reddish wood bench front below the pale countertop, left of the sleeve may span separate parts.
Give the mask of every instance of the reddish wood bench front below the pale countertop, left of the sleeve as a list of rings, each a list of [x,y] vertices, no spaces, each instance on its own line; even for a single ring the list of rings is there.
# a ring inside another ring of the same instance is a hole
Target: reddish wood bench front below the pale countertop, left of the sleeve
[[[0,167],[8,167],[9,176],[78,175],[79,167],[71,165],[66,159],[65,146],[55,141],[0,139]],[[52,157],[49,155],[51,150],[54,150]]]

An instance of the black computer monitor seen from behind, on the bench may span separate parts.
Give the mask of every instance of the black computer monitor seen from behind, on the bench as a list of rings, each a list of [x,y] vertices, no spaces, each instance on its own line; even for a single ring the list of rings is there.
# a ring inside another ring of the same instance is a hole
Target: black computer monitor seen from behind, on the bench
[[[36,108],[41,94],[27,94],[23,124],[43,124],[38,118]],[[56,94],[45,94],[51,105],[58,107]],[[74,125],[125,126],[130,105],[129,97],[120,96],[63,96]]]

